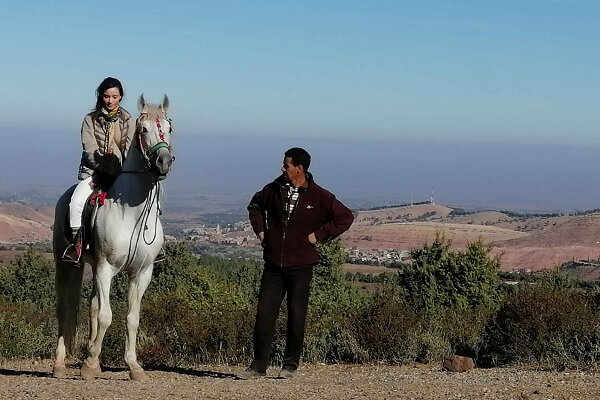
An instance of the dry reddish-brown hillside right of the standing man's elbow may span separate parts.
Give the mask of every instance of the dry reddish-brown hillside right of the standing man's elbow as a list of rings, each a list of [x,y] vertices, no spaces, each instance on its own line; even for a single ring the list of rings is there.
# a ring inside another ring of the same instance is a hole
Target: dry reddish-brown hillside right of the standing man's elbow
[[[482,239],[501,256],[502,269],[541,270],[564,262],[600,258],[600,214],[522,217],[498,211],[455,215],[435,204],[360,211],[343,236],[348,247],[409,250],[437,233],[454,248]]]

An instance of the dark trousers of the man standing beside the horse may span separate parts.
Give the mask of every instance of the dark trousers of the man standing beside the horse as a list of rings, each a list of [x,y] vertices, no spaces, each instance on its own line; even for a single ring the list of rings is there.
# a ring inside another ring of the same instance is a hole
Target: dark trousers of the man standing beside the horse
[[[269,365],[275,322],[285,294],[287,294],[288,321],[283,366],[290,369],[298,368],[304,343],[304,326],[312,276],[312,265],[276,267],[265,264],[254,325],[254,361],[250,365],[251,369],[264,372]]]

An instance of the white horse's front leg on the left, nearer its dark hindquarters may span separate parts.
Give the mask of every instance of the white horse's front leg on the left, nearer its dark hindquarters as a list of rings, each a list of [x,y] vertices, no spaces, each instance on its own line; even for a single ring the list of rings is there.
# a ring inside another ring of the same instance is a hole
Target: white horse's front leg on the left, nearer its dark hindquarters
[[[93,379],[98,376],[102,370],[100,369],[100,351],[102,350],[102,340],[106,329],[112,322],[112,310],[110,309],[110,285],[113,277],[113,269],[106,260],[99,262],[95,274],[96,293],[92,298],[90,307],[90,318],[96,314],[96,322],[90,321],[90,343],[89,356],[81,366],[81,377],[83,379]],[[95,337],[94,324],[96,324]]]

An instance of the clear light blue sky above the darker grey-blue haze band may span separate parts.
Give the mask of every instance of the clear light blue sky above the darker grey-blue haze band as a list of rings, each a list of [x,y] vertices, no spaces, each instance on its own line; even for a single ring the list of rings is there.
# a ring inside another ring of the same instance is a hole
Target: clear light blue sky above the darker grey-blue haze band
[[[0,3],[3,129],[72,140],[111,75],[186,135],[600,143],[597,1]]]

